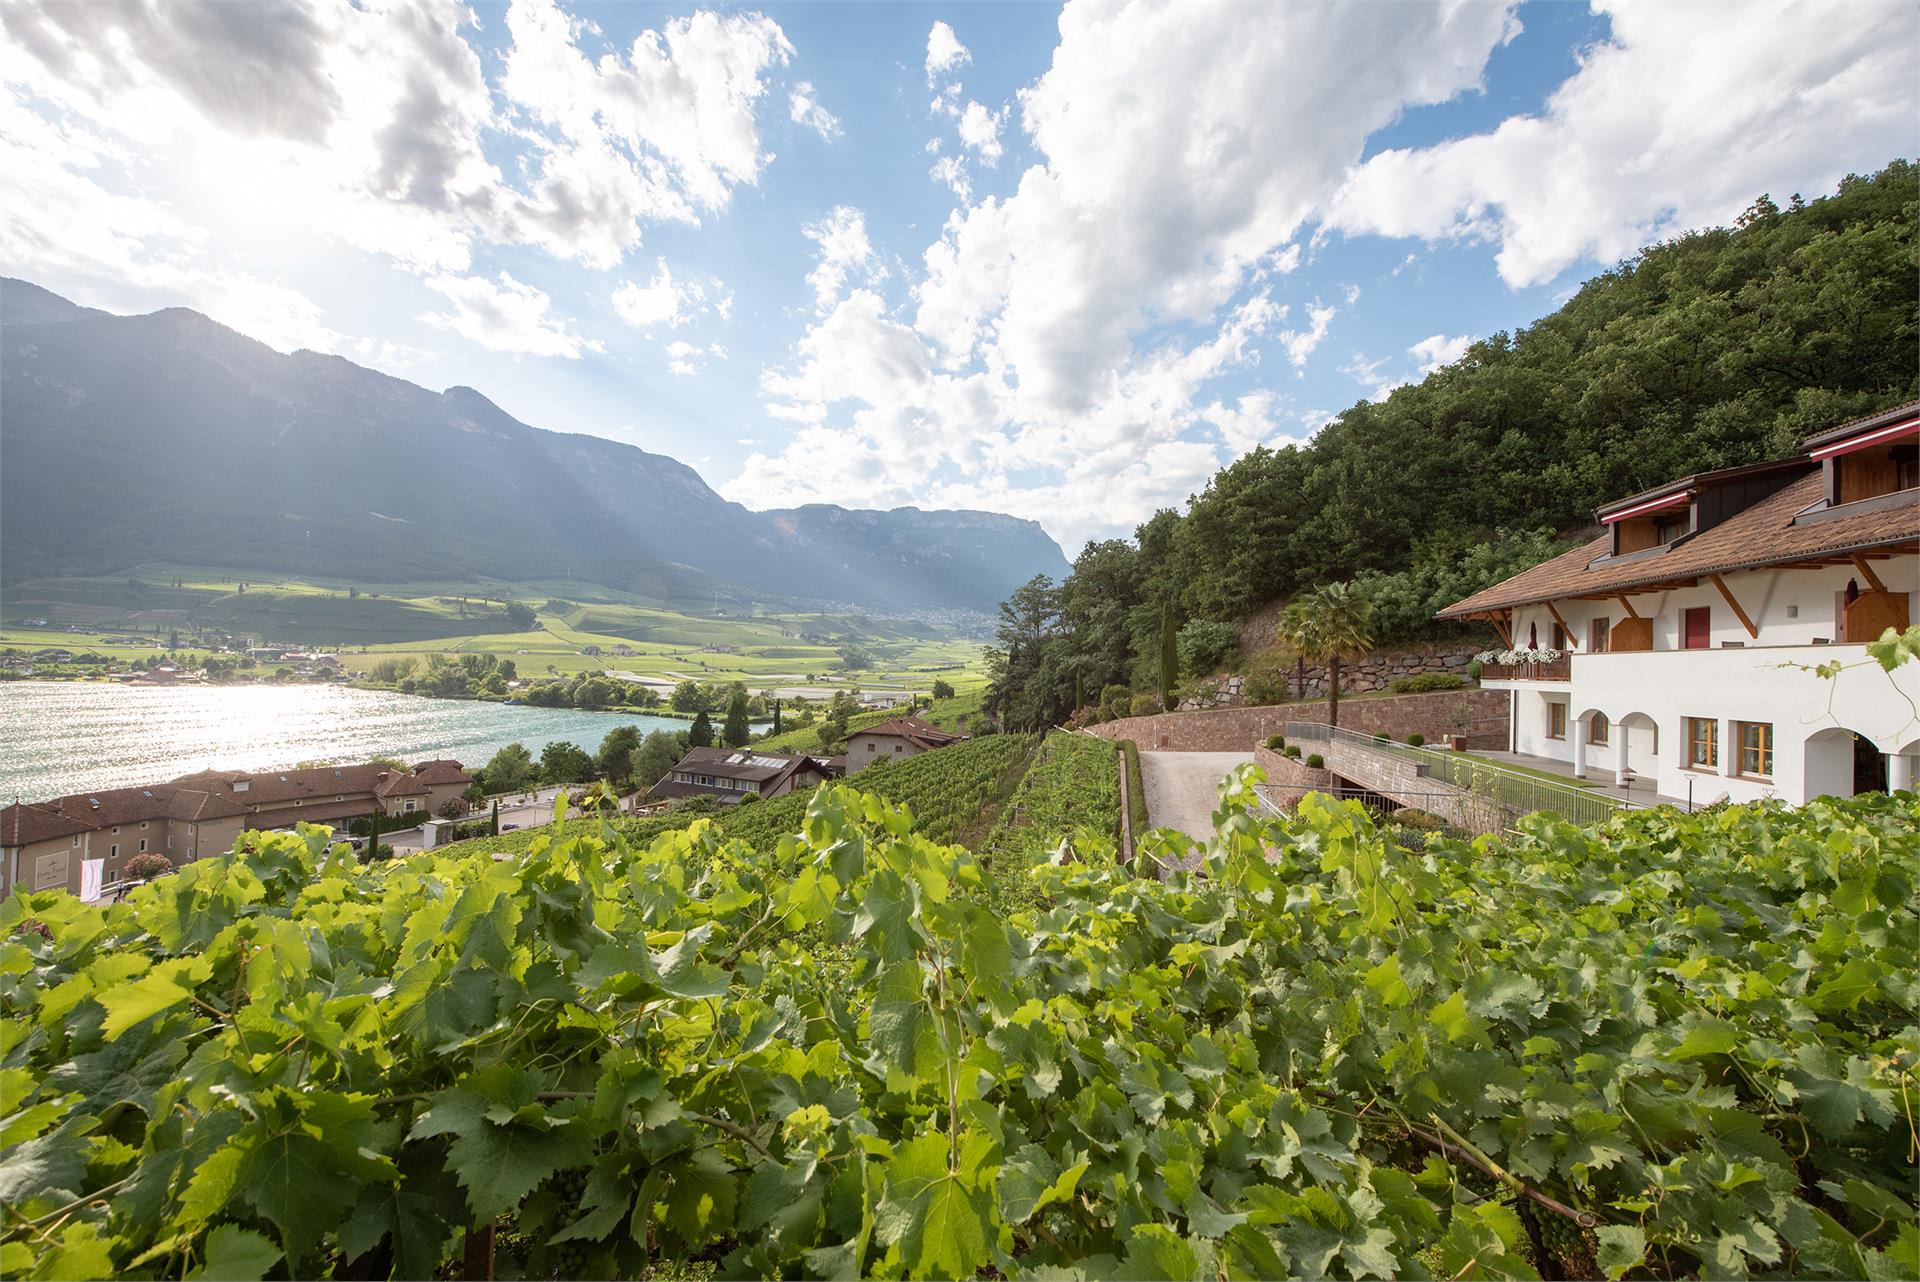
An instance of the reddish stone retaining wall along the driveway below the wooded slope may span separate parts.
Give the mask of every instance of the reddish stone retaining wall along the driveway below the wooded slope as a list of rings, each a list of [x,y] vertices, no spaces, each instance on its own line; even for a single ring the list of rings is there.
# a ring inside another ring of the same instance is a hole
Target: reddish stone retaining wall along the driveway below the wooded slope
[[[1123,716],[1087,729],[1102,739],[1133,739],[1144,752],[1246,752],[1256,743],[1265,743],[1267,735],[1283,733],[1286,722],[1325,720],[1327,704],[1311,700]],[[1386,731],[1402,741],[1419,731],[1432,743],[1465,733],[1469,748],[1503,750],[1507,693],[1471,687],[1434,695],[1340,699],[1340,725],[1363,735]]]

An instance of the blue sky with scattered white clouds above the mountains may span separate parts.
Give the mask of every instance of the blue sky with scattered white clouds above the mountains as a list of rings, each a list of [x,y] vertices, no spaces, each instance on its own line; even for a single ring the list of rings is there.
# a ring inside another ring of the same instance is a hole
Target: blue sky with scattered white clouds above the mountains
[[[0,0],[0,273],[1071,555],[1912,155],[1916,63],[1874,0]]]

